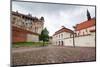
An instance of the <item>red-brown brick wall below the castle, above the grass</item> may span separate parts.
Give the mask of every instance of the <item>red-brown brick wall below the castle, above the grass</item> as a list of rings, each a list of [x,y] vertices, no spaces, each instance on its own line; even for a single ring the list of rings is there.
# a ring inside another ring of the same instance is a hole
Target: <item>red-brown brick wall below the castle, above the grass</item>
[[[38,35],[36,33],[12,26],[12,42],[27,42],[27,35]]]

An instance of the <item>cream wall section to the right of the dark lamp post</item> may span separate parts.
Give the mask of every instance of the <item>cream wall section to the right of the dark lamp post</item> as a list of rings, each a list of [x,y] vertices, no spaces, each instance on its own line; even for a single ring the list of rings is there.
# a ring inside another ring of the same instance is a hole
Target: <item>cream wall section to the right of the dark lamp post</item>
[[[75,45],[83,47],[95,47],[95,36],[87,35],[87,36],[75,37]]]

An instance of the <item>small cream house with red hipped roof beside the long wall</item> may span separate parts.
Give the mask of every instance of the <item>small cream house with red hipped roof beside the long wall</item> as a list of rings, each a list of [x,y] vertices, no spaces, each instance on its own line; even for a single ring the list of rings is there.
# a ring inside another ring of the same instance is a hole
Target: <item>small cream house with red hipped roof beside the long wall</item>
[[[53,44],[54,45],[65,45],[65,38],[73,37],[73,31],[65,28],[64,26],[56,31],[53,35]]]

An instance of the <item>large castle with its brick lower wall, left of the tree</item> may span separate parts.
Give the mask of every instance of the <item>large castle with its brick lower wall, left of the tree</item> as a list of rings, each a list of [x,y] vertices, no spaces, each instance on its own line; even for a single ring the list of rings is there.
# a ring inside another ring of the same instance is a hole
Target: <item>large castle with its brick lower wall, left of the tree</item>
[[[31,14],[12,11],[11,26],[13,42],[38,42],[44,26],[44,17],[38,19]]]

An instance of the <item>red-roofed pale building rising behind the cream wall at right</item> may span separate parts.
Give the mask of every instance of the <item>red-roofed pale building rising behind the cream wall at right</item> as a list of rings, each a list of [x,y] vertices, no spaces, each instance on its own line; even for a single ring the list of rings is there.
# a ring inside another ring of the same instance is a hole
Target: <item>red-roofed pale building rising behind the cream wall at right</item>
[[[74,26],[75,36],[83,36],[91,34],[91,31],[95,30],[95,18],[82,22]]]

